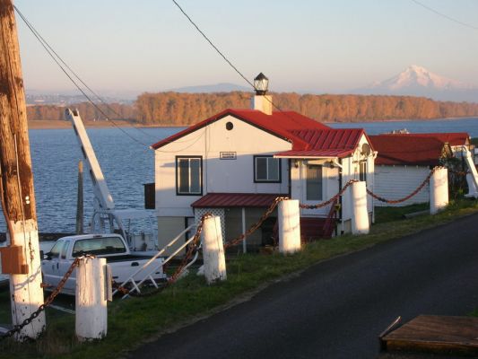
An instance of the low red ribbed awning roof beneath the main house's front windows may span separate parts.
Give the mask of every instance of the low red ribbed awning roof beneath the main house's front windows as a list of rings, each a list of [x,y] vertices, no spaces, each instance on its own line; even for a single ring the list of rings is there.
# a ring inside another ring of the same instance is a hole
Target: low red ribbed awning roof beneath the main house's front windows
[[[272,193],[208,193],[191,206],[194,208],[217,207],[268,207],[276,197],[287,195]]]

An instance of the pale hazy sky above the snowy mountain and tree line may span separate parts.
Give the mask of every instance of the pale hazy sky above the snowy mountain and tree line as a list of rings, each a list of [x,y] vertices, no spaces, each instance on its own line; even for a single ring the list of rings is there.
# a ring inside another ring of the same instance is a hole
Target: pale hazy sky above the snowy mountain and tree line
[[[250,81],[274,92],[347,92],[407,66],[478,86],[478,1],[177,0]],[[14,0],[97,92],[249,86],[171,0]],[[464,22],[465,26],[458,22]],[[74,89],[17,15],[27,91]]]

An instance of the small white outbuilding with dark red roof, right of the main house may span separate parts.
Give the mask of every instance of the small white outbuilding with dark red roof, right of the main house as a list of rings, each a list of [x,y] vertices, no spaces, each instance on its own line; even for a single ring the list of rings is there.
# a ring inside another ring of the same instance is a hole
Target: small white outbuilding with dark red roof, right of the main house
[[[375,193],[387,199],[408,196],[427,178],[430,170],[446,159],[460,158],[461,147],[469,146],[466,133],[386,134],[369,136],[378,151],[375,161]],[[465,162],[458,163],[465,170]],[[408,206],[430,201],[427,183],[420,192],[398,204],[375,201],[375,206]]]

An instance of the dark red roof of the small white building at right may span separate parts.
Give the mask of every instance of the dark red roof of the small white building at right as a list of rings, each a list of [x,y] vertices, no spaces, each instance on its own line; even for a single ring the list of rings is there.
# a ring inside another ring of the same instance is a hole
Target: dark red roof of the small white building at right
[[[435,166],[443,154],[445,143],[433,136],[393,134],[369,136],[378,151],[376,164],[413,164]]]

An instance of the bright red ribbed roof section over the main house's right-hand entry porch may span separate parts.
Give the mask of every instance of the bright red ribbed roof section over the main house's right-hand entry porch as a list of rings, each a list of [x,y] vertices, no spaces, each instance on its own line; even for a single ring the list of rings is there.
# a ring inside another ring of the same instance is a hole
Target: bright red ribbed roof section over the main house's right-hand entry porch
[[[276,153],[275,157],[345,157],[355,148],[365,134],[362,128],[342,128],[325,130],[293,130],[292,134],[307,145],[295,146],[291,151]]]

